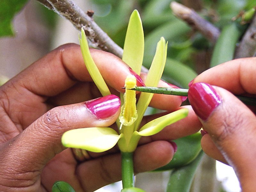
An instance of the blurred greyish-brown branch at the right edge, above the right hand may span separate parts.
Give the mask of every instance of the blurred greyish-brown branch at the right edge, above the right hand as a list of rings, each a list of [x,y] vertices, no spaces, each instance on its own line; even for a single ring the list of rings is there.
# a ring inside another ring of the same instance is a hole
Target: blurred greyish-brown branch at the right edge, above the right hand
[[[256,15],[236,49],[235,58],[255,57],[256,55]]]

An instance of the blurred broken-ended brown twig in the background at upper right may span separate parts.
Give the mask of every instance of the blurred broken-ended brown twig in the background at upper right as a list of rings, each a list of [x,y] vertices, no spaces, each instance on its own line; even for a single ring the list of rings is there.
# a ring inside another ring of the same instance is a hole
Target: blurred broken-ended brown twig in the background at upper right
[[[220,36],[220,30],[212,25],[212,23],[204,20],[193,9],[190,9],[175,1],[170,4],[170,7],[173,11],[173,14],[186,21],[188,25],[202,33],[213,44],[216,43],[218,37]]]

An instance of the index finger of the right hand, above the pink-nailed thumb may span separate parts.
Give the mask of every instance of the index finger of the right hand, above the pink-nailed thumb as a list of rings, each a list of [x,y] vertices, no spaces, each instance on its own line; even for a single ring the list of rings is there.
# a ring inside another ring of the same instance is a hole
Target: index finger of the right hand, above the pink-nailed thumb
[[[198,75],[193,83],[204,82],[227,89],[234,94],[256,94],[256,58],[231,60]]]

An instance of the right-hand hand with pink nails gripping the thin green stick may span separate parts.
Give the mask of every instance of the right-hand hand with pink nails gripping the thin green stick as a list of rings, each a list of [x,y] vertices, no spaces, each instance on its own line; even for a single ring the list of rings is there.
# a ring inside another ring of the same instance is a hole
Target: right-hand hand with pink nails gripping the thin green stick
[[[206,131],[201,140],[204,152],[234,168],[243,192],[256,190],[255,107],[244,105],[233,94],[255,97],[255,62],[256,58],[237,59],[208,69],[188,91]]]

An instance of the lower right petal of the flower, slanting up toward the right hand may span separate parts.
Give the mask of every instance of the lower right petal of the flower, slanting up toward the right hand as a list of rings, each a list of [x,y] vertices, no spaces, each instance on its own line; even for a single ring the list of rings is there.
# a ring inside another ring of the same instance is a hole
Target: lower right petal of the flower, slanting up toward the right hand
[[[169,113],[165,116],[161,116],[157,119],[154,119],[143,127],[141,127],[140,131],[138,132],[141,136],[150,136],[160,132],[164,127],[179,121],[180,119],[185,118],[188,116],[188,109],[180,109],[175,112]]]

